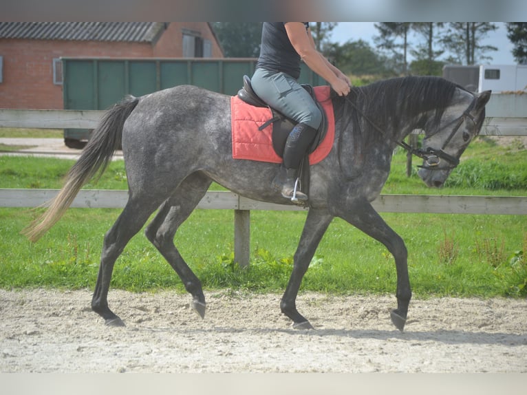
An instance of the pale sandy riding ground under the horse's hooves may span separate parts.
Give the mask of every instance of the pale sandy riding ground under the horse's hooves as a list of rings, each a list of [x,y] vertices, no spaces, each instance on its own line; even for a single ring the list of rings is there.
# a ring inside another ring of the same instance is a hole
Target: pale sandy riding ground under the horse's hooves
[[[108,328],[89,290],[0,290],[0,372],[527,372],[527,301],[299,296],[315,330],[293,330],[280,295],[110,292]]]

